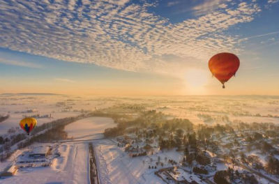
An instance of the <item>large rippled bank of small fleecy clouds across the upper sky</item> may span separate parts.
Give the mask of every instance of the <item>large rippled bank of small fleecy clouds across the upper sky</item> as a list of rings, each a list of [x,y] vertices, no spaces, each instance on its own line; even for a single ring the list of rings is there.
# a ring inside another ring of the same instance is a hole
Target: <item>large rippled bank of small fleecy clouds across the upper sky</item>
[[[239,1],[172,24],[149,13],[149,6],[154,5],[116,0],[3,1],[0,47],[121,70],[177,73],[217,52],[239,52],[239,38],[224,31],[252,21],[260,10],[257,3]],[[213,6],[216,1],[211,1]]]

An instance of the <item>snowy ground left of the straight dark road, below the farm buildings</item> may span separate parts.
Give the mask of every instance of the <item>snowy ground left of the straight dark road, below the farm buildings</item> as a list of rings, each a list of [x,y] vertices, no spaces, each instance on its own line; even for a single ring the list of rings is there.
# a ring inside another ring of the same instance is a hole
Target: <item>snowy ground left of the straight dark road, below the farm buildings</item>
[[[59,151],[61,157],[51,167],[20,168],[15,176],[1,179],[0,183],[89,183],[88,144],[63,144]]]

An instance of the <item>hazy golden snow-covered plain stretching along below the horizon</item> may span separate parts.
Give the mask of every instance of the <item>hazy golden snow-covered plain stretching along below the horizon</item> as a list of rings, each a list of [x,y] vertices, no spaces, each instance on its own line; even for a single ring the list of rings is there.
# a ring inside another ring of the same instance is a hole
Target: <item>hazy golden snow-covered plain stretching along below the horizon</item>
[[[51,116],[38,118],[38,125],[41,125],[121,104],[142,105],[176,118],[188,118],[193,123],[279,123],[279,97],[271,95],[80,97],[7,94],[0,95],[0,114],[9,115],[0,123],[0,135],[4,135],[9,128],[17,128],[24,116]],[[226,118],[225,122],[223,118]]]

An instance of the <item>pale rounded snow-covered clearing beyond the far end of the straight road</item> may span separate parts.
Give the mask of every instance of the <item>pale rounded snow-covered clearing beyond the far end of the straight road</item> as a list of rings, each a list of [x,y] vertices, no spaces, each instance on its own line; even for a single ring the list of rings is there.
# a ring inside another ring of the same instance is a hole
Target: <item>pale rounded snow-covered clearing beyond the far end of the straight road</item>
[[[74,123],[66,125],[65,131],[68,132],[68,138],[83,139],[100,139],[103,138],[103,132],[106,128],[116,126],[112,118],[90,117],[84,118]]]

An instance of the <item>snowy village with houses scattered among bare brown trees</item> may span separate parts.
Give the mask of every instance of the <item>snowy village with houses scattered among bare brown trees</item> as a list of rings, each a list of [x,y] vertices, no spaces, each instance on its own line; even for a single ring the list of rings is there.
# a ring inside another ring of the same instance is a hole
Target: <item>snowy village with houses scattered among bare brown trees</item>
[[[112,140],[130,158],[142,158],[147,170],[165,183],[278,183],[274,125],[242,125],[247,129],[200,125],[169,132],[153,124],[127,128]]]

